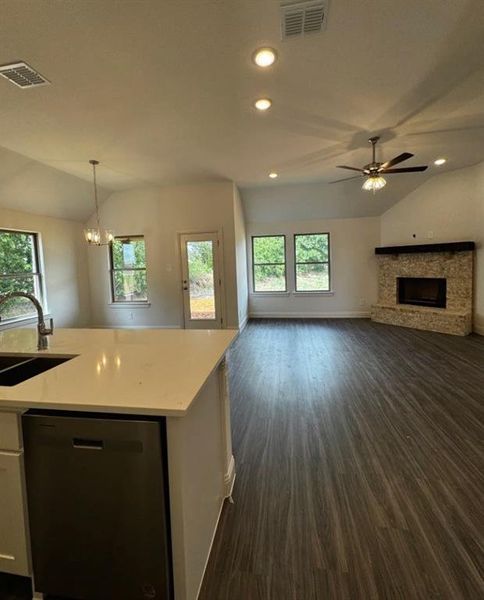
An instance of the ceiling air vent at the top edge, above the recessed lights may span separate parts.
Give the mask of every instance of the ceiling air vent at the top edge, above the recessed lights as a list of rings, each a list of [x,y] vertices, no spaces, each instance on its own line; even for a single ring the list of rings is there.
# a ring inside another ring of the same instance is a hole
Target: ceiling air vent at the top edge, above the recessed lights
[[[326,2],[282,0],[282,39],[318,33],[326,27]]]

